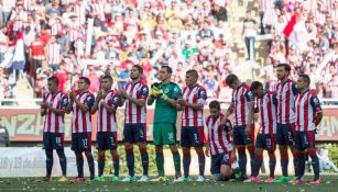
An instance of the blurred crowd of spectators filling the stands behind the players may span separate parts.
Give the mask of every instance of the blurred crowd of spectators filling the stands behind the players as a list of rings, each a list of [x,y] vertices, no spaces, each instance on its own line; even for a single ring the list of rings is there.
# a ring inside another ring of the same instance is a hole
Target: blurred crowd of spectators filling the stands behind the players
[[[250,2],[257,7],[241,21],[248,65],[255,63],[257,38],[268,42],[258,78],[274,90],[274,66],[288,63],[292,78],[308,74],[320,98],[338,99],[338,1],[242,1]],[[238,66],[229,4],[230,0],[0,0],[0,100],[41,98],[52,75],[64,91],[86,76],[96,92],[107,72],[122,86],[134,64],[143,67],[148,83],[156,81],[162,65],[174,69],[173,81],[179,86],[185,71],[196,69],[209,98],[229,99],[225,78]],[[291,22],[296,24],[287,36]]]

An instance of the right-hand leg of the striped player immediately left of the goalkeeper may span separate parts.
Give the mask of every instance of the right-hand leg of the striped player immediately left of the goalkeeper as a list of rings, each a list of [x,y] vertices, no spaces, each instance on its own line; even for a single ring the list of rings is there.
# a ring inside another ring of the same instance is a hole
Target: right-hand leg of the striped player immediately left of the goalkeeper
[[[140,181],[148,181],[148,170],[149,170],[149,155],[146,150],[146,124],[140,123],[137,124],[134,127],[134,139],[138,143],[139,150],[141,154],[141,161],[142,161],[142,168],[143,168],[143,177],[140,179]]]

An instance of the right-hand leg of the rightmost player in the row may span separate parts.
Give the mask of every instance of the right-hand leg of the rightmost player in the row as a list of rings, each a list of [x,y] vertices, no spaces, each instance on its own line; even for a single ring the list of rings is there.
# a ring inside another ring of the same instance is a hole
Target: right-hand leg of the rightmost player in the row
[[[319,159],[317,156],[317,150],[315,148],[315,133],[313,131],[308,131],[304,133],[303,136],[303,144],[306,144],[304,147],[305,153],[312,158],[312,165],[314,169],[314,180],[312,181],[313,184],[320,183],[320,176],[319,176]]]

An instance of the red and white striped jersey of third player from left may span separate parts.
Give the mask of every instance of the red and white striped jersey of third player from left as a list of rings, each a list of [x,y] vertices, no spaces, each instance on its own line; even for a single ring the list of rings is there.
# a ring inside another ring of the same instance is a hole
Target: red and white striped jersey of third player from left
[[[97,118],[97,131],[98,132],[117,132],[117,115],[116,113],[108,113],[103,106],[102,101],[109,106],[115,109],[118,108],[119,97],[113,91],[109,91],[103,95],[102,100],[98,104],[98,118]]]

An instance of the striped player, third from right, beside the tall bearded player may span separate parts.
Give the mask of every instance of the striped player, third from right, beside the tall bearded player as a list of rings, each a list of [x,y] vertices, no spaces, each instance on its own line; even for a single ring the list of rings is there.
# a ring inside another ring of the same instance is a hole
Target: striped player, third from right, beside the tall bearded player
[[[265,91],[263,84],[259,81],[252,82],[250,91],[258,98],[260,129],[255,138],[254,170],[249,181],[260,181],[259,171],[263,162],[263,150],[268,150],[270,159],[270,177],[265,182],[273,182],[275,180],[274,170],[276,165],[274,150],[276,146],[275,134],[277,100],[275,93]]]

